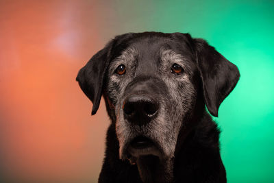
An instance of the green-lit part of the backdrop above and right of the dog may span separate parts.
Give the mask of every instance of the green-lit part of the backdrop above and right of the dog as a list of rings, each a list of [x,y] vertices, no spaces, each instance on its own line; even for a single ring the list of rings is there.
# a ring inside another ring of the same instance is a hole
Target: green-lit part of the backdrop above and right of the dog
[[[124,32],[204,38],[238,66],[240,81],[215,118],[227,182],[274,182],[274,1],[114,1]]]

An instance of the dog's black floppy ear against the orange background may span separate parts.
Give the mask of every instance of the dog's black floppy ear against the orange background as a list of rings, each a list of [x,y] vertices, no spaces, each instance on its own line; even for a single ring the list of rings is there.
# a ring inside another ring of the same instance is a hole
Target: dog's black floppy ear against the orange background
[[[114,40],[111,40],[108,45],[98,51],[95,56],[88,61],[88,63],[80,69],[76,81],[86,94],[86,96],[92,101],[92,112],[95,114],[99,108],[103,78],[110,62],[110,55]]]

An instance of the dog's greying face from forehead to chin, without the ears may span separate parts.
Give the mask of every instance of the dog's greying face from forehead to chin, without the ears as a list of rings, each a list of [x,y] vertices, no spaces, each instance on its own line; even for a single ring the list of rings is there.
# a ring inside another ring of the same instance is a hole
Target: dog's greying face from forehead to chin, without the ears
[[[175,44],[164,38],[136,40],[110,62],[105,91],[115,110],[121,158],[174,154],[197,97],[195,58],[188,47],[183,53]]]

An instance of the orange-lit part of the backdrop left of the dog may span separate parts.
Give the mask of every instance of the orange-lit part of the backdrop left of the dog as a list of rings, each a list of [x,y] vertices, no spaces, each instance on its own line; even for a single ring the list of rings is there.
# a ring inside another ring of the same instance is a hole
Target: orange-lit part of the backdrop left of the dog
[[[1,179],[97,182],[110,122],[104,104],[90,117],[75,77],[113,36],[101,21],[112,10],[100,1],[0,1],[0,12]]]

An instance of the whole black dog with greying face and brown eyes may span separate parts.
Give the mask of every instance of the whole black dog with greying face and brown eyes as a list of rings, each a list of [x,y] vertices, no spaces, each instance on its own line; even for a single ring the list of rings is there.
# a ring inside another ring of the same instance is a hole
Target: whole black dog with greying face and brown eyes
[[[210,114],[218,117],[239,77],[237,66],[190,34],[110,40],[76,78],[92,115],[103,95],[111,120],[99,183],[226,182]]]

